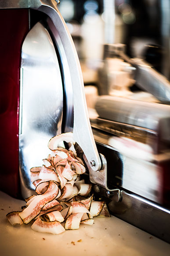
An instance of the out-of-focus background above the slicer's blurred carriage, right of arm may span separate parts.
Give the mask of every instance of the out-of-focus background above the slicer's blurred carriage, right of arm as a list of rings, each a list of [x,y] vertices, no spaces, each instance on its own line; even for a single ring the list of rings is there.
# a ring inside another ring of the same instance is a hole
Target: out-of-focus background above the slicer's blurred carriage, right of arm
[[[84,84],[97,86],[99,94],[106,94],[98,85],[101,60],[110,57],[106,44],[123,44],[127,56],[146,60],[170,79],[169,0],[61,0],[58,8],[76,45]],[[141,90],[131,78],[130,90]]]

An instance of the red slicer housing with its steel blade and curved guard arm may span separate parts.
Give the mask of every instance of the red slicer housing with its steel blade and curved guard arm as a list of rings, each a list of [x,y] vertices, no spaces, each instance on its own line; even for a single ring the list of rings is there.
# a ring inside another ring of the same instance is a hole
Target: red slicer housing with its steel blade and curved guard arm
[[[99,171],[105,186],[79,59],[56,2],[0,0],[0,186],[15,197],[19,183],[22,197],[33,193],[29,169],[41,165],[49,139],[61,132],[73,132],[92,181]]]

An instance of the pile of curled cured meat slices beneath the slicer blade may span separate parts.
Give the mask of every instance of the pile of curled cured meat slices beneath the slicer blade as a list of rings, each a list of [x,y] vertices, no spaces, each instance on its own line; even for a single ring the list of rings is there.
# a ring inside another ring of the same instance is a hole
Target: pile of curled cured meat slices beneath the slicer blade
[[[72,143],[71,148],[58,147],[61,141]],[[35,231],[58,234],[78,229],[80,223],[92,225],[95,216],[110,216],[106,203],[94,201],[92,185],[81,178],[86,168],[77,157],[72,133],[53,137],[48,147],[51,154],[43,159],[43,166],[30,169],[36,195],[25,199],[22,211],[8,213],[9,222],[33,222]]]

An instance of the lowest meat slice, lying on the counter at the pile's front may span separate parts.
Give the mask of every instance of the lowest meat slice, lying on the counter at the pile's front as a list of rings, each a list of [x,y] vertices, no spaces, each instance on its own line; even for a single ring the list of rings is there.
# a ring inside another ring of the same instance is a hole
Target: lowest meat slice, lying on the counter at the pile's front
[[[41,217],[38,217],[31,228],[37,232],[46,232],[59,234],[65,231],[65,228],[58,221],[46,222]]]

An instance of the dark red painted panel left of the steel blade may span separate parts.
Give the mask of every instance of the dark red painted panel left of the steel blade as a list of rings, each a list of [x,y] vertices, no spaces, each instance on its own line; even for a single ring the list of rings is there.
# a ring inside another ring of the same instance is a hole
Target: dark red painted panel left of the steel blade
[[[0,10],[0,190],[20,196],[18,163],[19,68],[29,10]]]

